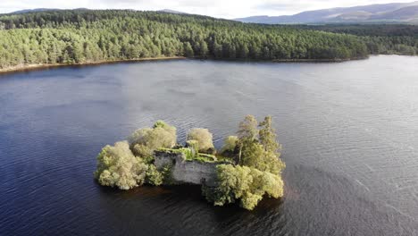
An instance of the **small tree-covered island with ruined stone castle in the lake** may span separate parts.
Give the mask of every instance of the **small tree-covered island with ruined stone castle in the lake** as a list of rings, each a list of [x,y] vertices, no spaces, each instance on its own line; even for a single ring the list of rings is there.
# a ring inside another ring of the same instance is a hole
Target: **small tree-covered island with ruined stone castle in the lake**
[[[272,128],[272,117],[257,122],[247,115],[237,136],[224,140],[219,151],[207,129],[188,132],[184,145],[177,143],[176,128],[162,121],[139,129],[125,141],[105,146],[97,156],[96,180],[103,186],[130,190],[154,186],[199,184],[215,206],[238,202],[252,210],[264,196],[283,197],[281,145]]]

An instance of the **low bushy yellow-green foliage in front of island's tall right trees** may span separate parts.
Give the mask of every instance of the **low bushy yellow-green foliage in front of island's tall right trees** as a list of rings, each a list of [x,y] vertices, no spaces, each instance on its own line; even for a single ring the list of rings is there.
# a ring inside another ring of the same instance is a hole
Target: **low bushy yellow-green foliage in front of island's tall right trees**
[[[217,166],[217,187],[204,190],[205,197],[215,206],[234,203],[252,210],[267,195],[271,198],[283,196],[283,181],[279,175],[261,172],[247,166],[220,164]]]

